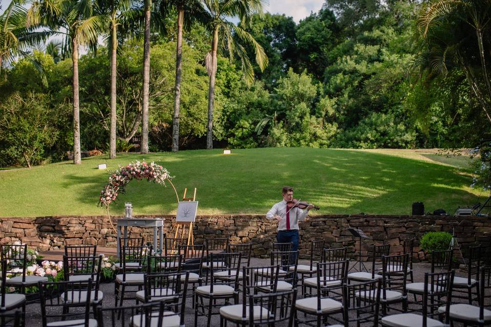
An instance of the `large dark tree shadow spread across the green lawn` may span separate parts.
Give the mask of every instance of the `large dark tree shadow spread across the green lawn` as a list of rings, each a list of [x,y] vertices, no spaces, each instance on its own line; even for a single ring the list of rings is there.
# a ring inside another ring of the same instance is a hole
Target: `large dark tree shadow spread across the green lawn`
[[[427,208],[473,204],[477,196],[464,190],[471,178],[455,168],[376,153],[334,149],[299,149],[297,155],[284,151],[247,152],[231,156],[182,156],[176,162],[158,162],[175,175],[178,196],[184,188],[197,188],[198,215],[265,214],[281,200],[281,187],[295,188],[295,196],[318,204],[313,214],[410,214],[414,201]],[[165,160],[165,158],[164,158]],[[206,165],[203,164],[206,160]],[[155,160],[157,162],[157,160]],[[83,185],[76,198],[84,204],[98,202],[107,183],[104,176],[65,176],[69,183]],[[135,214],[175,212],[175,194],[146,180],[132,181],[127,193],[111,204],[111,214],[123,214],[124,202],[132,202]],[[160,207],[162,206],[162,208]],[[101,209],[105,214],[105,210]]]

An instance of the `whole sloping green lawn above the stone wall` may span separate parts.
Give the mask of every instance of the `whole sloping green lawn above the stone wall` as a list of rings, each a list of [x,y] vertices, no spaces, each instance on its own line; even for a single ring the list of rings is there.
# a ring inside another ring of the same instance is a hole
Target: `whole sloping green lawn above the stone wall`
[[[426,211],[441,207],[453,213],[477,202],[479,194],[469,187],[465,157],[313,148],[243,149],[231,155],[195,150],[0,171],[0,217],[105,215],[97,203],[109,172],[136,160],[166,168],[180,197],[184,188],[197,188],[201,215],[265,214],[281,200],[285,184],[293,186],[295,197],[319,205],[319,214],[410,214],[414,201],[424,202]],[[107,171],[97,169],[102,162]],[[170,185],[135,180],[126,191],[111,204],[112,215],[123,215],[125,201],[133,203],[134,214],[175,213]]]

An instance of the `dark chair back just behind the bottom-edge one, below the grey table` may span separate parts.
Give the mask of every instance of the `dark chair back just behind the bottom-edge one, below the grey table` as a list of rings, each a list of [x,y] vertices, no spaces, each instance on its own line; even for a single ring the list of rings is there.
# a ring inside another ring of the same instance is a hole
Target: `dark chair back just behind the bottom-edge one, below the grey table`
[[[172,302],[186,298],[189,272],[161,272],[145,274],[145,302],[155,300]]]

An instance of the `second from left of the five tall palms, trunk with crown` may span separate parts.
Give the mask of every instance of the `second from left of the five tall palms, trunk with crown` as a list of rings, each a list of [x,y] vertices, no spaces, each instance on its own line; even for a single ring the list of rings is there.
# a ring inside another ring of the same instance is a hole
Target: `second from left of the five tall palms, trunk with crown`
[[[139,13],[134,8],[136,1],[133,0],[97,0],[97,12],[104,15],[108,22],[110,32],[107,35],[108,48],[111,53],[111,124],[109,130],[109,158],[116,158],[116,74],[117,74],[117,50],[118,50],[118,27],[125,25],[127,22],[132,23],[133,19]],[[128,34],[126,33],[123,34]]]

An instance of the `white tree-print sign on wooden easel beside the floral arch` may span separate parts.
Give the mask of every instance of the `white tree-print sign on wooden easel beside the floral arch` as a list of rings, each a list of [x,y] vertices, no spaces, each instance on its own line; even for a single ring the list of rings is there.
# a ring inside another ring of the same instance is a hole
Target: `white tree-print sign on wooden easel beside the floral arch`
[[[194,188],[192,198],[186,198],[186,193],[187,189],[184,189],[183,200],[180,201],[177,206],[177,214],[175,216],[174,225],[174,239],[176,239],[178,236],[181,236],[181,238],[184,239],[187,231],[187,245],[194,245],[193,222],[196,220],[196,212],[198,209],[198,201],[196,201],[196,188]],[[182,231],[180,231],[180,229],[182,229]]]

